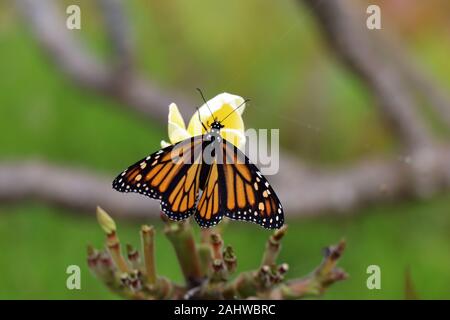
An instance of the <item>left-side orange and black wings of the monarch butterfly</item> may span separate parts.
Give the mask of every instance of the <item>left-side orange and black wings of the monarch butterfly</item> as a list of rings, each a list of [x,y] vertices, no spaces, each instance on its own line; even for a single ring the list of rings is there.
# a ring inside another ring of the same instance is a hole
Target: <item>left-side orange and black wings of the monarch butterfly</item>
[[[195,212],[202,143],[196,136],[159,150],[117,176],[113,188],[159,199],[170,219],[186,219]]]

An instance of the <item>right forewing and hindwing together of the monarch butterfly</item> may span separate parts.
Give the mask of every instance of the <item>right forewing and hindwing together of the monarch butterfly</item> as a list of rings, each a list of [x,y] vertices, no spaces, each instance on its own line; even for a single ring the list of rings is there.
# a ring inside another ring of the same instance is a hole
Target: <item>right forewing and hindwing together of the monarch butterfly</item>
[[[223,215],[234,220],[278,229],[284,223],[283,207],[267,179],[233,144],[221,139],[215,161],[202,184],[195,219],[204,228],[216,225]],[[217,148],[216,148],[217,149]]]

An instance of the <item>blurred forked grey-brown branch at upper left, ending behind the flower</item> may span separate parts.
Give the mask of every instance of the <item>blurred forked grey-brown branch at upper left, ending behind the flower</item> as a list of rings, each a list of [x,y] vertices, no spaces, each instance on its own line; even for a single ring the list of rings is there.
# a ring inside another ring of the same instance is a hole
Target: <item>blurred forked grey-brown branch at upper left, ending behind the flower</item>
[[[16,1],[36,39],[76,84],[118,99],[145,116],[166,121],[167,106],[173,101],[181,105],[185,99],[174,92],[165,92],[131,69],[132,49],[121,3],[99,0],[115,50],[115,64],[109,65],[90,53],[74,33],[65,28],[64,11],[56,1]]]

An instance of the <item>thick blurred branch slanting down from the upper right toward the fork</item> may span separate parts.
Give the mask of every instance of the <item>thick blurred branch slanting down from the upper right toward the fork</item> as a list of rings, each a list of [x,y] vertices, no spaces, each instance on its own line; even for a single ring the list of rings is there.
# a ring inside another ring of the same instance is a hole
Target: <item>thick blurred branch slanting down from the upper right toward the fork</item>
[[[313,11],[333,51],[367,84],[380,113],[409,149],[428,146],[428,130],[417,115],[414,96],[405,87],[392,61],[380,53],[380,40],[370,35],[364,14],[355,14],[348,1],[303,0]]]

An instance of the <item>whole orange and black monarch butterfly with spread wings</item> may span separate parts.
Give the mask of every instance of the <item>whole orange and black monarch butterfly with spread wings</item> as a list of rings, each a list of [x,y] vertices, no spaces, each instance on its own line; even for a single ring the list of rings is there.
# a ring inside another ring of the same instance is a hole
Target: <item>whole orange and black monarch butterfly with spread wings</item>
[[[220,136],[223,120],[214,118],[209,129],[202,123],[205,134],[136,162],[117,176],[113,188],[159,199],[171,220],[194,215],[203,228],[218,224],[224,215],[280,228],[284,214],[277,195],[244,153]]]

